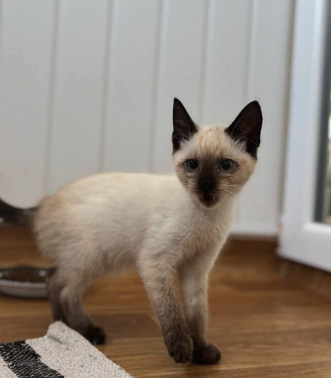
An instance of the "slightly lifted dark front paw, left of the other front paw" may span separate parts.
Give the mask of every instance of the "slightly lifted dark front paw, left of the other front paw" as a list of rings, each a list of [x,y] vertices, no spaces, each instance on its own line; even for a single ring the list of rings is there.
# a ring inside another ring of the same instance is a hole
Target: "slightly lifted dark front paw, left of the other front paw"
[[[188,333],[173,332],[166,340],[170,356],[176,361],[185,364],[192,357],[193,341]]]

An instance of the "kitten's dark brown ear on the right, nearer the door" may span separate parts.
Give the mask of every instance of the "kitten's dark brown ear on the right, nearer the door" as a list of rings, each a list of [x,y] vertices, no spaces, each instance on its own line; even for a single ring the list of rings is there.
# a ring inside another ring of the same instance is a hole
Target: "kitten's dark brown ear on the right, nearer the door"
[[[256,158],[257,148],[260,145],[262,127],[262,112],[257,101],[252,101],[244,107],[225,132],[235,140],[246,143],[246,151]]]

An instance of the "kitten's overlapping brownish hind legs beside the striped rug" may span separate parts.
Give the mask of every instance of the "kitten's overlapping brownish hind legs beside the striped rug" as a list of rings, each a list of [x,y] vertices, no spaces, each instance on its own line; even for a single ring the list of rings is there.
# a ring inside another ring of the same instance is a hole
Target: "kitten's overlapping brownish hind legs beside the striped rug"
[[[93,324],[81,302],[92,278],[86,272],[57,268],[49,278],[49,297],[55,319],[61,319],[92,344],[103,344],[106,339],[104,330]]]

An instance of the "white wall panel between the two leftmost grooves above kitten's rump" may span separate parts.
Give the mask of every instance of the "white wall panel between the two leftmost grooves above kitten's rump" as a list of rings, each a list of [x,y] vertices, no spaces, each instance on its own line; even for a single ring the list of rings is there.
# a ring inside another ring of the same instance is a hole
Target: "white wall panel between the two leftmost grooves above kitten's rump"
[[[107,0],[54,4],[47,192],[99,167],[108,42]]]

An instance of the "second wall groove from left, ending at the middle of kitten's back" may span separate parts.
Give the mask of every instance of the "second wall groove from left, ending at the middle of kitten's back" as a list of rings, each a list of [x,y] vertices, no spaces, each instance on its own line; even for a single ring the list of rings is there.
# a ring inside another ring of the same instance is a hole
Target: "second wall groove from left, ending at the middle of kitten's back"
[[[107,103],[109,98],[109,65],[111,53],[111,35],[112,35],[112,14],[113,4],[115,0],[108,0],[108,14],[107,14],[107,30],[106,30],[106,48],[105,48],[105,61],[104,61],[104,86],[103,86],[103,105],[102,105],[102,126],[100,132],[100,152],[98,161],[98,170],[104,170],[104,156],[105,156],[105,135],[106,135],[106,122],[107,122]]]

